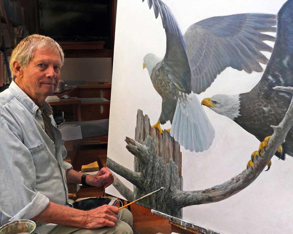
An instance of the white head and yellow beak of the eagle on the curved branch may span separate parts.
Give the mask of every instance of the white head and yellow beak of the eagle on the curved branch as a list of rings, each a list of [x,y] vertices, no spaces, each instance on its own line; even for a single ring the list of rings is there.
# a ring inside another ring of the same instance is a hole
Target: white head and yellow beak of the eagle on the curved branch
[[[239,94],[237,95],[225,95],[216,94],[211,98],[205,98],[201,102],[202,105],[209,107],[212,111],[226,116],[231,120],[234,120],[240,116],[240,100]]]

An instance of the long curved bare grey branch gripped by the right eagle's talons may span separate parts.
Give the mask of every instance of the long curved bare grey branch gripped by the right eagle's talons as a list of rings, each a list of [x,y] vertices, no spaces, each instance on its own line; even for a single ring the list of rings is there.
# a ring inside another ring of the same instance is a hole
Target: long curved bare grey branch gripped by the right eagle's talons
[[[293,93],[292,87],[275,87],[276,90],[282,90]],[[274,126],[274,133],[266,147],[267,152],[262,154],[254,164],[253,168],[245,169],[238,176],[231,178],[229,181],[221,185],[214,186],[209,189],[199,191],[178,191],[173,193],[174,203],[178,207],[186,207],[191,205],[206,204],[211,202],[222,201],[245,187],[250,185],[263,171],[278,147],[284,142],[287,133],[293,126],[293,98],[287,110],[287,113],[278,126]]]

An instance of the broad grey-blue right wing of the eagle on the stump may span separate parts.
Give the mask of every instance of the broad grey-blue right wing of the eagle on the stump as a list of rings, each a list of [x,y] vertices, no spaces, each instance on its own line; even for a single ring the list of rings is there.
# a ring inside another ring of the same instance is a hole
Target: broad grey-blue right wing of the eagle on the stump
[[[201,20],[184,34],[186,53],[192,73],[192,91],[204,92],[226,67],[262,72],[259,63],[268,59],[260,51],[272,51],[263,41],[275,37],[261,32],[275,32],[276,16],[271,14],[236,14]]]

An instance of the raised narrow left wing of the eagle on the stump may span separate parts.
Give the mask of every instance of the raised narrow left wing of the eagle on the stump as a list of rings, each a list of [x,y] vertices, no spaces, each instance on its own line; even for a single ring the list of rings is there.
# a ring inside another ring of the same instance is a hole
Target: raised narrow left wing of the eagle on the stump
[[[166,32],[166,54],[161,66],[166,66],[167,63],[174,70],[177,70],[180,76],[172,76],[172,83],[182,92],[189,94],[191,92],[191,72],[185,52],[183,35],[178,23],[165,3],[160,0],[147,0],[147,2],[150,9],[153,7],[156,18],[160,14],[163,28]]]

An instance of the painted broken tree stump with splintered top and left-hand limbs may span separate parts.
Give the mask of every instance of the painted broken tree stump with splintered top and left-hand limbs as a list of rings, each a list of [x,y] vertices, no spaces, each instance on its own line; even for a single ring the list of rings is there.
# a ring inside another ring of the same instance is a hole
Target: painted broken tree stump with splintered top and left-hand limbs
[[[139,201],[138,204],[182,217],[182,209],[178,209],[171,198],[171,194],[182,190],[183,186],[180,145],[167,131],[161,135],[158,129],[152,128],[148,116],[144,116],[141,110],[137,111],[135,140],[126,137],[125,141],[126,148],[135,156],[135,172],[111,159],[108,159],[108,167],[135,185],[134,199],[165,187],[164,190]],[[129,192],[125,193],[126,188],[120,185],[118,180],[115,183],[114,186],[122,196],[125,198],[131,196]]]

